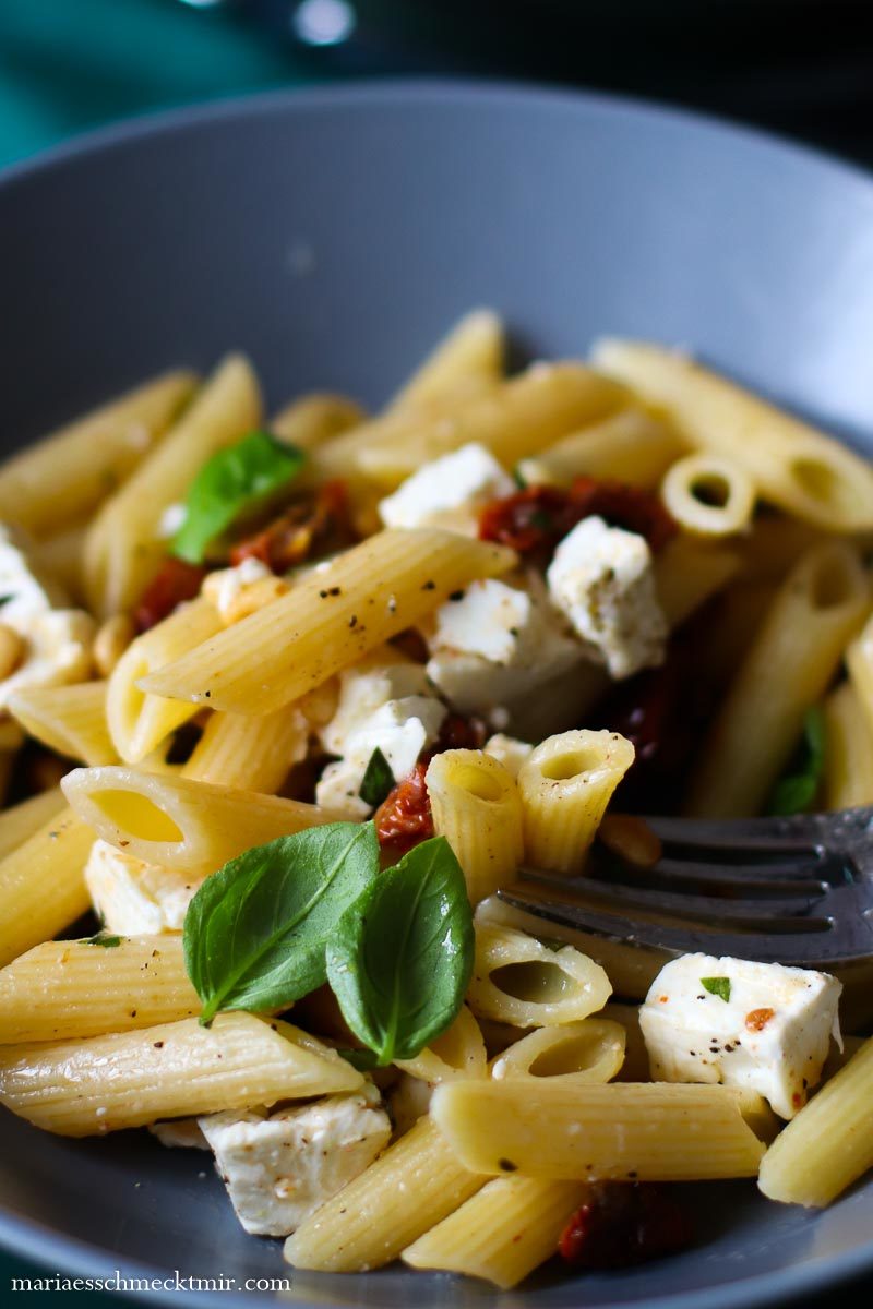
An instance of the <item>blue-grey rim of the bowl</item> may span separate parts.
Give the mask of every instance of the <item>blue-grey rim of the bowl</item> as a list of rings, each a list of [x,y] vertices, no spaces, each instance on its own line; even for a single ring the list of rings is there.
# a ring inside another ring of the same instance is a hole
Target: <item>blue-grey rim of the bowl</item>
[[[14,161],[0,169],[0,208],[4,194],[17,185],[25,185],[31,178],[41,177],[56,169],[65,168],[93,154],[124,149],[137,141],[171,135],[179,130],[211,127],[225,122],[258,118],[276,110],[300,113],[319,113],[343,106],[355,109],[408,105],[480,105],[517,103],[524,99],[542,109],[561,106],[568,110],[582,110],[588,115],[633,122],[660,122],[668,130],[699,132],[704,136],[719,136],[734,140],[738,145],[751,147],[758,152],[770,153],[781,160],[793,158],[800,164],[811,164],[839,177],[843,185],[849,183],[873,199],[873,173],[863,166],[834,156],[814,145],[798,143],[774,131],[751,127],[729,118],[694,109],[674,106],[668,102],[643,97],[623,96],[601,90],[577,90],[564,86],[548,86],[537,81],[508,80],[501,77],[378,77],[348,79],[343,82],[323,82],[302,88],[280,86],[270,90],[233,94],[211,98],[204,102],[182,105],[170,109],[152,110],[126,117],[103,127],[77,132],[71,139],[41,151],[34,156]],[[105,1247],[67,1236],[46,1224],[38,1223],[0,1207],[0,1249],[13,1257],[29,1259],[45,1267],[47,1258],[64,1263],[69,1278],[111,1278],[116,1271],[131,1279],[166,1279],[168,1271],[139,1259],[113,1255]],[[288,1266],[283,1266],[288,1267]],[[753,1309],[784,1302],[793,1297],[809,1297],[817,1292],[834,1289],[865,1272],[873,1272],[873,1237],[863,1245],[838,1254],[826,1255],[796,1267],[777,1268],[750,1278],[739,1278],[720,1285],[678,1291],[669,1296],[657,1296],[645,1301],[645,1309]],[[277,1270],[279,1278],[281,1270]],[[54,1275],[54,1274],[52,1274]],[[288,1267],[293,1283],[293,1268]],[[221,1302],[232,1306],[250,1306],[251,1295],[257,1292],[221,1292]],[[136,1300],[164,1304],[215,1305],[215,1292],[140,1289],[127,1291],[126,1296]],[[306,1300],[294,1300],[298,1309],[315,1309]],[[640,1301],[622,1300],[610,1304],[609,1309],[639,1309]]]

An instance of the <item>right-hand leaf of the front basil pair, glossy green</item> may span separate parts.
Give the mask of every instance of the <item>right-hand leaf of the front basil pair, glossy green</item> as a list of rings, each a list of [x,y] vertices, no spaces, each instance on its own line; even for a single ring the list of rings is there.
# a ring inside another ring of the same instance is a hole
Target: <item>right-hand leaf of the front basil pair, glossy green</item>
[[[327,945],[327,980],[355,1035],[385,1066],[414,1059],[455,1018],[472,971],[472,910],[444,836],[386,869]]]

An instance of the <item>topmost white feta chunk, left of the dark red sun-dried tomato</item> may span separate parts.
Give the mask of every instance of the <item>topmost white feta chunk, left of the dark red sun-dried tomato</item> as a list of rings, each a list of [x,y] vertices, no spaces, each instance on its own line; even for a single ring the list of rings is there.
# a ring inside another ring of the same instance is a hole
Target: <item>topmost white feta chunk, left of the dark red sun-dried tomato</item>
[[[476,511],[516,490],[508,473],[483,445],[462,445],[423,465],[380,503],[386,528],[452,528],[475,533]]]

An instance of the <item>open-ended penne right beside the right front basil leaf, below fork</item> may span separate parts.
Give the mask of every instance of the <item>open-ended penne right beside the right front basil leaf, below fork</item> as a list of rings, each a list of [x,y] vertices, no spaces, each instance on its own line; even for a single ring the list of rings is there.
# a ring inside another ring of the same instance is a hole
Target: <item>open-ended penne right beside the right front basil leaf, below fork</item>
[[[550,950],[533,936],[476,920],[467,1001],[475,1014],[539,1028],[588,1018],[613,987],[603,969],[572,945]]]

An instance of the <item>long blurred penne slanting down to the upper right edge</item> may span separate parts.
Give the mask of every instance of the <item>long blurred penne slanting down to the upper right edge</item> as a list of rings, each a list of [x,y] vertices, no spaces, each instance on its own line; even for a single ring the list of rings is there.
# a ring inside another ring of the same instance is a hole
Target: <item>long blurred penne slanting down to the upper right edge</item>
[[[873,469],[848,446],[661,346],[606,339],[592,359],[691,445],[741,463],[764,500],[826,531],[873,529]]]

